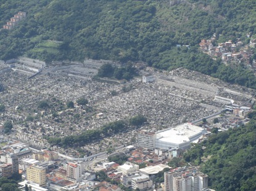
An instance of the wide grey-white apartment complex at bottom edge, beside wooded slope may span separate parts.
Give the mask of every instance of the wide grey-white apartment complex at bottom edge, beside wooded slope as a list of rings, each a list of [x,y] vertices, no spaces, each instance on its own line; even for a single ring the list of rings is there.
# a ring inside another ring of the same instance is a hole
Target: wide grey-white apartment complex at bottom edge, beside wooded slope
[[[196,168],[166,172],[165,191],[200,191],[208,187],[208,176]]]

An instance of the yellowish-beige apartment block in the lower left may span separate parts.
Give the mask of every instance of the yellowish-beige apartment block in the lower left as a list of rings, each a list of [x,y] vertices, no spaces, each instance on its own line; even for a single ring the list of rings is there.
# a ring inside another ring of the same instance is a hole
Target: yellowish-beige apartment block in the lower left
[[[42,166],[29,166],[27,168],[27,180],[39,184],[39,186],[46,185],[46,168]]]

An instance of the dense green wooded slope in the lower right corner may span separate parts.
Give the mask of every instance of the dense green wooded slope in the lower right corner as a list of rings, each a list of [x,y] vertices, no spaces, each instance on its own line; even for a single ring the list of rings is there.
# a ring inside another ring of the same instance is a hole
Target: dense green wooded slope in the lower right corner
[[[213,189],[256,189],[256,113],[250,117],[247,125],[213,134],[184,154],[187,162],[202,166]]]

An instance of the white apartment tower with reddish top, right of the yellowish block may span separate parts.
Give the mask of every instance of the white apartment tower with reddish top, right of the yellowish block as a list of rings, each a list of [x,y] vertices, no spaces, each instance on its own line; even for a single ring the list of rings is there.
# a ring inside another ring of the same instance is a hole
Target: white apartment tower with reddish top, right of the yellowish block
[[[79,164],[68,163],[67,180],[71,182],[80,182],[82,180],[81,166]]]

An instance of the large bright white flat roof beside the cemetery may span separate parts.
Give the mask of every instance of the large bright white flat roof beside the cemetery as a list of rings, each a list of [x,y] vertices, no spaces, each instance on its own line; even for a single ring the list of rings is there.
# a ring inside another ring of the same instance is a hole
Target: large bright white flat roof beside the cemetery
[[[190,139],[192,136],[201,133],[202,131],[204,131],[204,128],[191,125],[190,123],[184,123],[166,131],[160,131],[157,133],[157,139],[162,142],[180,144],[182,142],[191,141]]]

